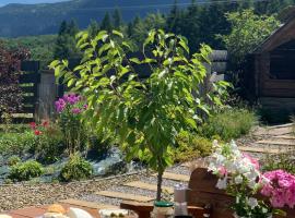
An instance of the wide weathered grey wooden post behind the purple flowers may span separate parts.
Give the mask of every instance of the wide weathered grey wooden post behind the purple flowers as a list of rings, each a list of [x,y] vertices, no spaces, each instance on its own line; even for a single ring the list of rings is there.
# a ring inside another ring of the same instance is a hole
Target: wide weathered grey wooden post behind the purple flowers
[[[40,83],[38,84],[38,100],[36,108],[36,120],[47,120],[55,114],[55,100],[58,97],[58,86],[54,71],[43,70]]]

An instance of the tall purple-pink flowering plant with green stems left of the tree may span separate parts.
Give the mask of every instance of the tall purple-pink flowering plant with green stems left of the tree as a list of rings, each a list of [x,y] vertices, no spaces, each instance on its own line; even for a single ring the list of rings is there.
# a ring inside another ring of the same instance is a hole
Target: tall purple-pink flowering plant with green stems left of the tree
[[[63,133],[69,154],[74,154],[83,148],[86,141],[85,126],[81,122],[81,113],[87,109],[81,96],[75,94],[64,95],[56,101],[59,125]]]

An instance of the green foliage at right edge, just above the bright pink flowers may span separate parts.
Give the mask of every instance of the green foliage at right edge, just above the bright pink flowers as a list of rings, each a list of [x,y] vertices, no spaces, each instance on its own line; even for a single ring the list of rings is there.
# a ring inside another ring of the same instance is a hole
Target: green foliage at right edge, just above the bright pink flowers
[[[294,153],[268,155],[262,159],[262,171],[285,170],[292,174],[295,173]]]

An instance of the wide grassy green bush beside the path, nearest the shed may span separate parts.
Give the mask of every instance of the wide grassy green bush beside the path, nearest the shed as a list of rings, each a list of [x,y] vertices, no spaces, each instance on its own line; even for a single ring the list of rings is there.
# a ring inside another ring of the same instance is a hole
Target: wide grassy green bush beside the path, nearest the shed
[[[200,126],[199,134],[206,138],[220,137],[227,142],[248,134],[257,120],[252,111],[231,108],[211,116]]]

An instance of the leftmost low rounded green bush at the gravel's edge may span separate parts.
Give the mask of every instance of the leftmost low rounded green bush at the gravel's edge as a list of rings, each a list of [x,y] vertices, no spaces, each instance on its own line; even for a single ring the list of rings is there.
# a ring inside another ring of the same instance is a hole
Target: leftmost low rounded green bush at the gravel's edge
[[[35,160],[30,160],[12,166],[8,178],[20,182],[40,177],[43,173],[43,166]]]

